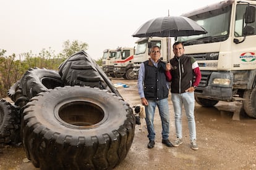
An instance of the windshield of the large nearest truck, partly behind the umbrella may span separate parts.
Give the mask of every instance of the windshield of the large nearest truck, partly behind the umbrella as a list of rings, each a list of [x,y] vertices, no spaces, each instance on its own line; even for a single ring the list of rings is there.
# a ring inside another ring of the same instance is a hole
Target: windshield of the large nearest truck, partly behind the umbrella
[[[210,42],[224,41],[228,38],[232,5],[214,9],[201,14],[186,16],[197,22],[207,34],[195,36],[178,37],[177,41],[184,42],[184,45],[203,44]]]

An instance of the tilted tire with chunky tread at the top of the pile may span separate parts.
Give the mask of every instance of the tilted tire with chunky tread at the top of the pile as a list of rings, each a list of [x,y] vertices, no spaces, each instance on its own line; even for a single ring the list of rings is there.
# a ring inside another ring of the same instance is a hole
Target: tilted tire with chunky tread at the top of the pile
[[[121,97],[108,76],[85,51],[77,52],[61,63],[59,75],[66,86],[98,87]]]

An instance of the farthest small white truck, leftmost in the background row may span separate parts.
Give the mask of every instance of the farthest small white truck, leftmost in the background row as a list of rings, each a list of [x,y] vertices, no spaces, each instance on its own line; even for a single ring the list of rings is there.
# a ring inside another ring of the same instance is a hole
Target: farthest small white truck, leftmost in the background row
[[[105,49],[103,51],[102,59],[102,70],[106,73],[107,76],[114,76],[114,58],[116,57],[116,49]]]

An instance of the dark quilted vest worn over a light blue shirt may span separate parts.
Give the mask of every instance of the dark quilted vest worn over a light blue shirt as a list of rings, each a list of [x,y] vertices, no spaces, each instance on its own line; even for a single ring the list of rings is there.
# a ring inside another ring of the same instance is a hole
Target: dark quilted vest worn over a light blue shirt
[[[169,90],[166,86],[166,63],[159,61],[156,68],[151,60],[143,62],[145,65],[144,95],[147,100],[161,100],[168,98]]]

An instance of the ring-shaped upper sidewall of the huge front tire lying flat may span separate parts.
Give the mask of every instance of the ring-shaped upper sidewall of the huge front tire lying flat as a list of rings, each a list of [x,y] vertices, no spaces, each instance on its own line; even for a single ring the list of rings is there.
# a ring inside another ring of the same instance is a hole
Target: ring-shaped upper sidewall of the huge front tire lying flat
[[[36,116],[36,119],[50,131],[60,134],[72,134],[72,136],[77,137],[79,137],[81,133],[83,134],[83,132],[86,136],[108,134],[119,129],[119,126],[124,124],[124,121],[127,119],[126,115],[123,114],[127,112],[126,108],[124,108],[126,105],[122,104],[123,100],[120,100],[121,98],[116,97],[116,95],[109,94],[111,93],[90,87],[75,86],[56,88],[53,91],[45,92],[44,95],[36,97],[38,98],[36,99],[36,106],[40,107],[32,106],[32,110],[34,110],[33,113],[35,113],[33,116]],[[89,102],[97,105],[104,112],[103,119],[90,127],[80,127],[65,123],[59,118],[58,111],[63,105],[72,102]],[[33,105],[33,103],[27,103],[27,105],[31,104]],[[28,110],[31,110],[31,108],[28,108]],[[25,108],[24,113],[26,112],[27,110]],[[29,114],[30,112],[28,112],[28,115]],[[26,119],[26,115],[24,119]]]

